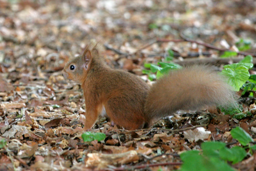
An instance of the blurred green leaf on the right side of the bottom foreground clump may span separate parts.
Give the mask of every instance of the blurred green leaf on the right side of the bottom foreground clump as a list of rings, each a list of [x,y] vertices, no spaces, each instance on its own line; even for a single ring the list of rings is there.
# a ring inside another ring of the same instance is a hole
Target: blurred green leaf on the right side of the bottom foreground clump
[[[220,157],[224,160],[232,161],[236,164],[246,156],[246,151],[241,146],[234,146],[231,149],[225,147],[220,150]]]

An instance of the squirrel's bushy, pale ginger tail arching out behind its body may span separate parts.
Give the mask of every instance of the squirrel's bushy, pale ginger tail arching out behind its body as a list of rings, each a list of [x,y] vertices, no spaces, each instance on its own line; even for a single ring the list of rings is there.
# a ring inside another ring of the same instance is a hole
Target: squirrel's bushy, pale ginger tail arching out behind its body
[[[224,78],[208,66],[190,66],[170,72],[153,84],[145,103],[148,123],[178,110],[212,105],[234,105],[236,95]]]

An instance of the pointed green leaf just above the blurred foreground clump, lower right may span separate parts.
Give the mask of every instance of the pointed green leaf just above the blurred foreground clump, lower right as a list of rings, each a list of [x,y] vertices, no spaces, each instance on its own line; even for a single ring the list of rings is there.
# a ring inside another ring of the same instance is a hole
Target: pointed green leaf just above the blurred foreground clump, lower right
[[[248,145],[250,142],[253,142],[251,136],[245,132],[241,127],[236,127],[231,130],[231,136],[234,139],[237,139],[242,145]]]

